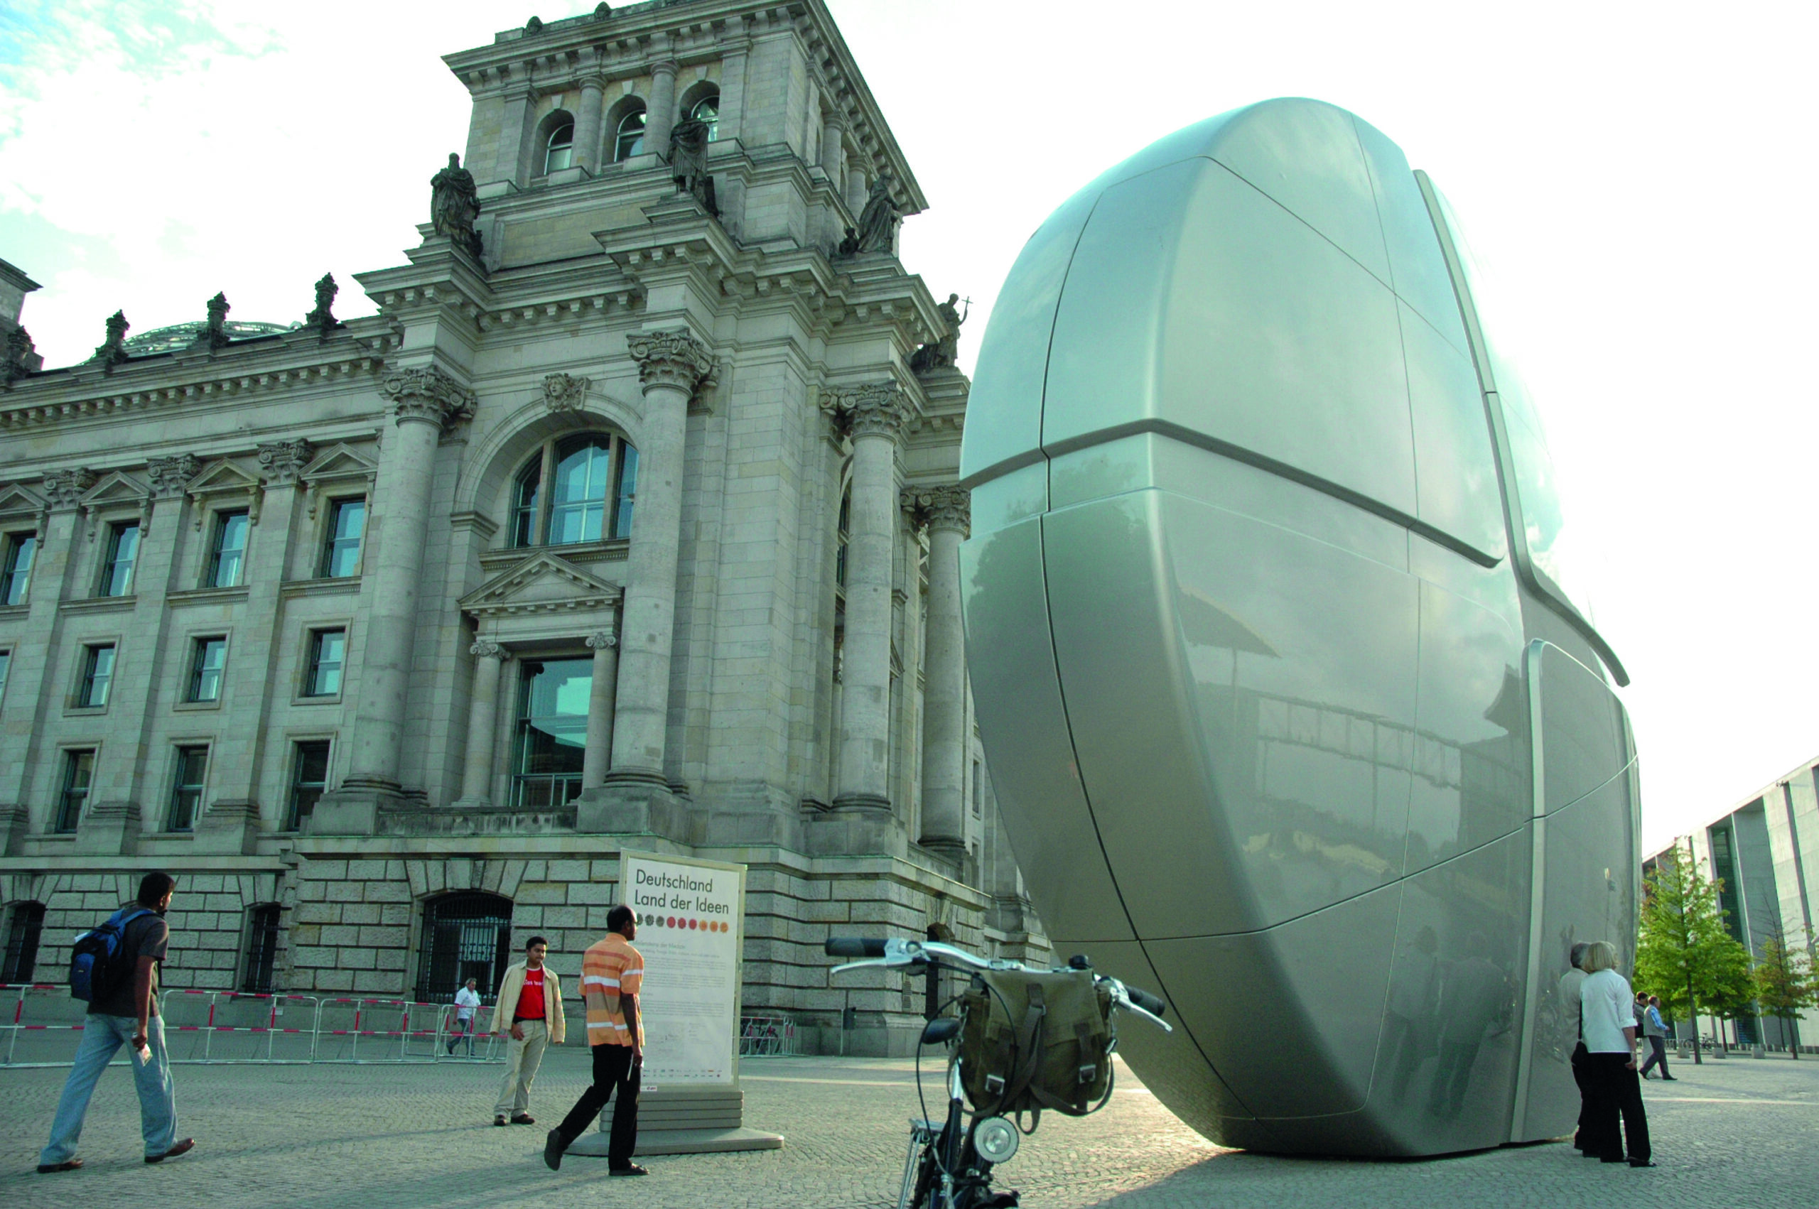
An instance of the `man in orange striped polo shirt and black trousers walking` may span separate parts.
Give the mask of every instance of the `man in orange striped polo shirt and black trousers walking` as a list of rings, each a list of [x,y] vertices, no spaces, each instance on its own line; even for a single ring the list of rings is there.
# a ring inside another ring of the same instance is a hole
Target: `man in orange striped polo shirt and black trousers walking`
[[[631,1162],[638,1144],[638,1074],[644,1067],[644,1018],[638,989],[644,985],[644,956],[631,947],[638,934],[638,916],[620,904],[606,916],[608,933],[588,945],[580,962],[580,989],[588,996],[588,1045],[593,1049],[593,1085],[549,1131],[544,1162],[555,1171],[562,1153],[593,1124],[613,1098],[613,1134],[606,1149],[608,1174],[642,1176]]]

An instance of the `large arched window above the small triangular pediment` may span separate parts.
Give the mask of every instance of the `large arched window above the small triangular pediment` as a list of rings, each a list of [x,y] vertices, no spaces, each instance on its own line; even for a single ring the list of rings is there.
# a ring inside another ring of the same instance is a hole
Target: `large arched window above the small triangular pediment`
[[[631,536],[638,451],[613,433],[548,442],[511,487],[511,544],[575,545]]]

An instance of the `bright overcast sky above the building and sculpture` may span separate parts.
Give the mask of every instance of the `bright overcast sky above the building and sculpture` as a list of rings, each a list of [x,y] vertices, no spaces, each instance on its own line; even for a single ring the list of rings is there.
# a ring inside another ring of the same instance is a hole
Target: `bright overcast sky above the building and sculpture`
[[[466,145],[440,56],[591,0],[0,0],[0,258],[82,360],[293,322],[402,264]],[[1042,218],[1202,116],[1317,96],[1395,138],[1495,275],[1601,629],[1630,667],[1644,844],[1819,756],[1814,5],[831,0],[930,198],[902,258],[991,298]]]

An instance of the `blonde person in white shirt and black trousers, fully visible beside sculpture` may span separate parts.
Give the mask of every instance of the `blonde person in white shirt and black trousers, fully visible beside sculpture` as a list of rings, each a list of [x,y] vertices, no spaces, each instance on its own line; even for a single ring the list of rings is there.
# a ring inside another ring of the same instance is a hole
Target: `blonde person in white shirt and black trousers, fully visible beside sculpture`
[[[1643,1113],[1643,1080],[1635,1074],[1635,993],[1617,973],[1617,947],[1593,940],[1581,965],[1586,980],[1579,985],[1579,1018],[1586,1042],[1586,1084],[1592,1136],[1584,1153],[1606,1164],[1624,1160],[1624,1142],[1632,1167],[1653,1167],[1648,1149],[1648,1116]],[[1617,1118],[1623,1118],[1623,1133]]]

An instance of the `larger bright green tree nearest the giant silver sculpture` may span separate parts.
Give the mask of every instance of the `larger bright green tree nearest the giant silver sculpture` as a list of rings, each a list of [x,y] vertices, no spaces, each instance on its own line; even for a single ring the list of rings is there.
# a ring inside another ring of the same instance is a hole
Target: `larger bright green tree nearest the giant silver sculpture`
[[[1655,864],[1643,885],[1635,945],[1635,980],[1661,996],[1675,1018],[1693,1022],[1699,1056],[1699,1011],[1735,1013],[1750,1000],[1750,951],[1724,927],[1721,882],[1699,873],[1692,838]],[[1723,1027],[1713,1029],[1723,1044]]]

